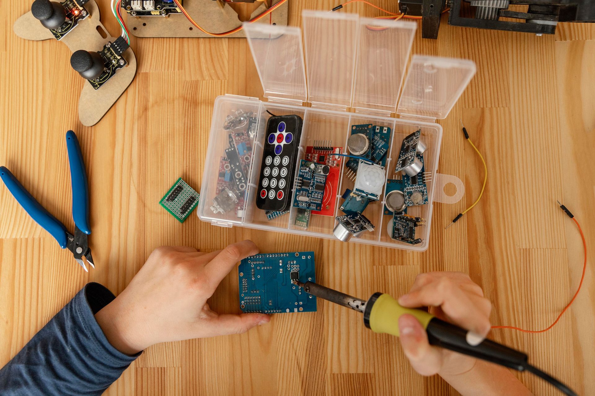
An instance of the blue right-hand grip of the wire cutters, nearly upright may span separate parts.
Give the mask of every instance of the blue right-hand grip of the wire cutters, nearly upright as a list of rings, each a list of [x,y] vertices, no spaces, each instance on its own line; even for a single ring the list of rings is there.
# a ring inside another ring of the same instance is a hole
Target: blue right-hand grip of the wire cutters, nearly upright
[[[73,131],[66,132],[66,148],[70,163],[70,181],[73,191],[73,219],[79,230],[91,233],[89,226],[89,183],[84,169],[83,153],[79,139]]]

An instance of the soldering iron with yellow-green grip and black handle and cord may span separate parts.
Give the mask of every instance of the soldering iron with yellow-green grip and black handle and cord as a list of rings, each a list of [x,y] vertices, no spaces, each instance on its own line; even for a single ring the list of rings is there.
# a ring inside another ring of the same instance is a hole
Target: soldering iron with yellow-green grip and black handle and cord
[[[399,317],[405,313],[409,313],[418,319],[425,328],[425,331],[428,333],[428,341],[431,345],[518,371],[527,370],[540,376],[566,395],[577,396],[572,389],[562,384],[562,382],[540,369],[531,366],[527,362],[527,354],[487,339],[476,346],[472,346],[466,339],[467,330],[445,322],[421,309],[405,308],[399,305],[397,300],[389,294],[374,293],[368,300],[361,300],[314,282],[301,283],[295,278],[292,279],[292,282],[302,287],[306,293],[363,313],[364,325],[374,332],[387,333],[399,337]]]

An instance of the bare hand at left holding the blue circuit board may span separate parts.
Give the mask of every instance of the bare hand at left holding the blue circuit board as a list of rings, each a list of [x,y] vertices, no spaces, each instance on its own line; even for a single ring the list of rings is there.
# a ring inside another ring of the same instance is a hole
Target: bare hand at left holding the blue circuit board
[[[95,318],[109,343],[126,354],[165,341],[246,332],[268,323],[270,316],[220,315],[206,300],[237,262],[257,253],[250,240],[212,253],[184,246],[157,248],[126,289]]]

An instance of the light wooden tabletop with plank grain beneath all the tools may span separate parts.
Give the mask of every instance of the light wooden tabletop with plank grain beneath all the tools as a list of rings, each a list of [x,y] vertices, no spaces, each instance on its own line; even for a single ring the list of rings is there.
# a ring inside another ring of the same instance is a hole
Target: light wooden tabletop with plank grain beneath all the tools
[[[107,1],[102,20],[118,31]],[[376,4],[396,10],[389,0]],[[333,1],[290,1],[290,24],[301,8]],[[77,116],[86,84],[54,40],[30,42],[12,33],[27,11],[2,2],[0,21],[0,164],[8,166],[68,227],[71,191],[64,134],[79,135],[90,182],[88,274],[0,187],[0,365],[89,281],[120,293],[159,245],[212,251],[252,238],[262,252],[316,254],[317,279],[355,296],[405,293],[415,275],[463,271],[493,302],[493,324],[546,327],[571,299],[581,278],[583,246],[564,202],[595,246],[595,25],[560,24],[555,36],[450,27],[438,40],[418,30],[413,53],[472,59],[477,75],[444,128],[439,170],[465,182],[458,204],[436,204],[430,248],[422,254],[201,222],[184,224],[159,207],[179,176],[201,185],[215,97],[262,96],[243,39],[134,39],[136,78],[105,117],[86,128]],[[365,5],[346,11],[380,15]],[[341,11],[344,12],[344,11]],[[480,204],[444,226],[477,197],[483,169],[459,128],[465,122],[486,157],[489,178]],[[493,330],[497,341],[527,351],[530,362],[581,395],[595,394],[595,280],[589,262],[572,308],[543,334]],[[211,300],[239,312],[237,271]],[[538,395],[558,395],[519,375]],[[396,338],[364,328],[360,315],[320,301],[317,313],[275,315],[248,334],[149,348],[108,395],[443,395],[456,394],[436,376],[408,365]]]

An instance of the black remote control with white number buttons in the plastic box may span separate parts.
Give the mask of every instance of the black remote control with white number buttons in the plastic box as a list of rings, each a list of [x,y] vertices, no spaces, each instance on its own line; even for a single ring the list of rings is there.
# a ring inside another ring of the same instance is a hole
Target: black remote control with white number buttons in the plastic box
[[[289,210],[302,122],[302,118],[297,115],[273,116],[268,119],[261,174],[256,190],[257,208]]]

